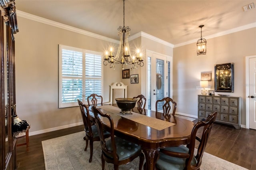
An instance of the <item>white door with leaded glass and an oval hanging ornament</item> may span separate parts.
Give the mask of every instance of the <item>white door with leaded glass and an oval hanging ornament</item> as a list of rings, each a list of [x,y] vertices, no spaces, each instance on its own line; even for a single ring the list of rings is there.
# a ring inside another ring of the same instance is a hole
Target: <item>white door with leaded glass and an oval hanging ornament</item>
[[[151,62],[151,110],[156,110],[156,101],[168,96],[167,57],[152,54]],[[162,103],[161,103],[162,104]],[[158,106],[162,108],[161,105]],[[161,110],[161,109],[158,109]]]

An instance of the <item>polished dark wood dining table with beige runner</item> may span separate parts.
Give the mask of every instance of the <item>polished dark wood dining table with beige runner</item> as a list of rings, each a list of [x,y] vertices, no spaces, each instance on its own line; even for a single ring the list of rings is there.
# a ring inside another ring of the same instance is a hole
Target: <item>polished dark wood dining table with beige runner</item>
[[[145,155],[144,170],[154,170],[160,148],[182,146],[190,142],[194,123],[175,115],[148,109],[132,109],[132,114],[122,114],[116,104],[97,106],[102,113],[108,113],[114,121],[114,133],[125,140],[141,146]],[[89,108],[90,119],[94,114]],[[105,128],[110,127],[107,119],[101,117]]]

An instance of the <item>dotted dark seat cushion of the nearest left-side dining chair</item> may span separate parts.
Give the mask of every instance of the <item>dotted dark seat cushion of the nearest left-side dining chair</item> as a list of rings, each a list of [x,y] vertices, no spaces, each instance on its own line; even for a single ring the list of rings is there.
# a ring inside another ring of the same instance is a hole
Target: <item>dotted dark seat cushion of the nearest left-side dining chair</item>
[[[132,142],[129,142],[128,140],[124,140],[115,136],[115,142],[116,152],[118,154],[119,160],[124,160],[136,154],[137,152],[141,152],[141,147],[138,144],[134,144]],[[111,151],[113,150],[110,139],[106,141],[106,148]],[[110,154],[107,154],[106,156],[112,158]]]

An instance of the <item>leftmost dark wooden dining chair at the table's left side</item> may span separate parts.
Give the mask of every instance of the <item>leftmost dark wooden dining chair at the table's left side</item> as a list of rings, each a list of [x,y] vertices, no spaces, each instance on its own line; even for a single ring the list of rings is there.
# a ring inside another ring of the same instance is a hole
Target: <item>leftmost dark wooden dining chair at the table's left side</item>
[[[100,141],[100,137],[99,137],[96,125],[92,125],[92,123],[90,121],[90,114],[89,114],[89,109],[88,109],[89,106],[84,105],[82,103],[82,101],[80,101],[79,99],[77,99],[77,101],[78,101],[78,105],[80,107],[82,120],[83,120],[83,123],[84,123],[84,131],[85,131],[84,140],[86,140],[86,146],[84,148],[84,151],[87,150],[88,142],[90,140],[90,159],[89,159],[89,162],[92,162],[93,142],[94,141]],[[108,138],[110,136],[110,133],[106,132],[106,131],[104,131],[103,134],[104,134],[104,136],[106,136],[106,138]]]

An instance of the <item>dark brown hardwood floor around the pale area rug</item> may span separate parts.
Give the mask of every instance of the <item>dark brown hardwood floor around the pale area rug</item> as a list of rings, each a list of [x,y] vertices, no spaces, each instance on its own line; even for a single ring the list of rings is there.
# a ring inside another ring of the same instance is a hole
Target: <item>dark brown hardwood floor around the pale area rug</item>
[[[194,121],[195,123],[197,121]],[[42,141],[83,131],[83,125],[30,136],[29,151],[26,146],[17,147],[18,170],[44,170]],[[18,143],[24,142],[21,138]],[[212,127],[206,152],[247,168],[256,169],[256,130],[235,129],[229,125],[215,123]]]

